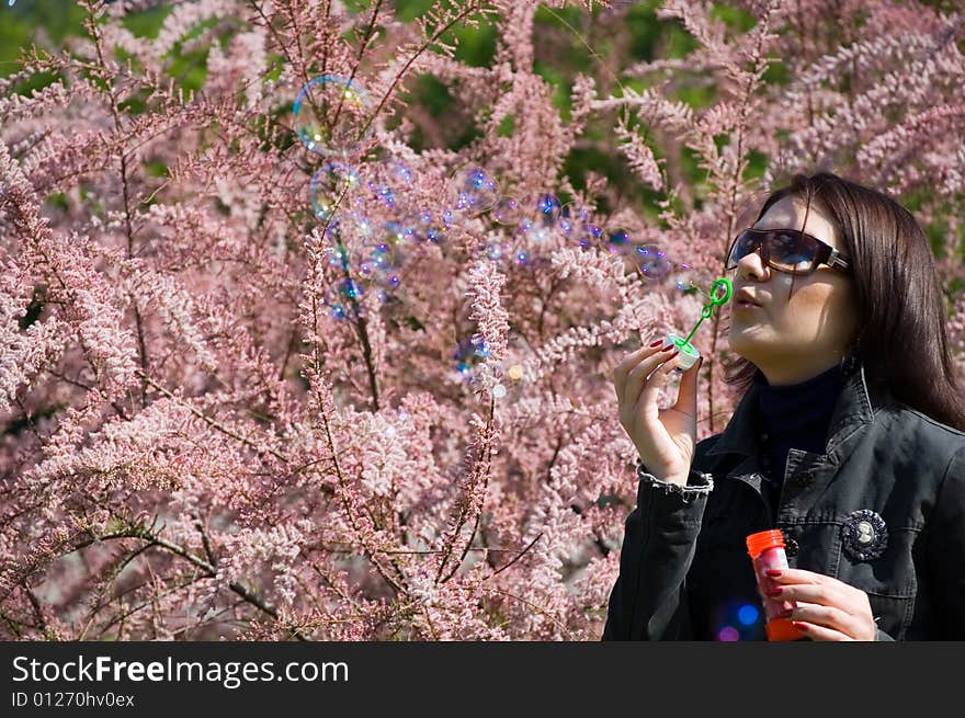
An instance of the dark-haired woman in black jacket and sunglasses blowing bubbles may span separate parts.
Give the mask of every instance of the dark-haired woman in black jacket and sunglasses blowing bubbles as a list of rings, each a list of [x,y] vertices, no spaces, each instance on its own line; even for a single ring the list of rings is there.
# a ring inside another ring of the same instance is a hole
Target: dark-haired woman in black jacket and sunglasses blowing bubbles
[[[700,364],[660,342],[614,371],[640,457],[603,640],[763,639],[749,534],[781,528],[814,640],[965,639],[965,398],[928,241],[888,196],[821,172],[737,235],[730,376],[745,394],[699,444]]]

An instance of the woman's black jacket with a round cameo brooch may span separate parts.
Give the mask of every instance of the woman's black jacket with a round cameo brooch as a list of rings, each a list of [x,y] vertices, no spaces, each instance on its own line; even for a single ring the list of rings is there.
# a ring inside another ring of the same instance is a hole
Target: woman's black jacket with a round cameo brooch
[[[859,363],[826,453],[791,449],[772,499],[760,426],[751,387],[697,444],[685,487],[640,467],[602,640],[714,640],[725,626],[764,639],[745,538],[775,527],[791,568],[867,593],[878,640],[965,639],[965,434],[897,402]]]

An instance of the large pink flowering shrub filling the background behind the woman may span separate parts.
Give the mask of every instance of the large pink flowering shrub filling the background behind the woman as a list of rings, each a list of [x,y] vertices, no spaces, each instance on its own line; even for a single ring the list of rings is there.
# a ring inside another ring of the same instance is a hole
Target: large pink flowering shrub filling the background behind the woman
[[[597,640],[612,367],[795,171],[913,208],[965,354],[963,13],[79,4],[0,81],[4,638]]]

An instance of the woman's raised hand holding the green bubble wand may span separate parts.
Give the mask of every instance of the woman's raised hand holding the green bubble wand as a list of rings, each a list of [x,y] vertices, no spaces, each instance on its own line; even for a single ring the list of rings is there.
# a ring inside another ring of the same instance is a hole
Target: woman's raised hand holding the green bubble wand
[[[658,479],[686,483],[697,433],[697,371],[701,362],[684,372],[677,403],[657,407],[660,387],[678,366],[674,346],[638,349],[613,371],[620,403],[620,423],[626,430],[647,470]]]

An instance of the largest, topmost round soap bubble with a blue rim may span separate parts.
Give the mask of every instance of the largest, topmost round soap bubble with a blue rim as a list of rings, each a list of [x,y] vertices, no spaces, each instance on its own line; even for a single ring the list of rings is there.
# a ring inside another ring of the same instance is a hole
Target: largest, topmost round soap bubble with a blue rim
[[[322,75],[298,92],[295,129],[305,146],[327,157],[348,157],[372,134],[368,93],[357,80]]]

